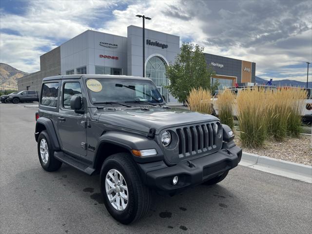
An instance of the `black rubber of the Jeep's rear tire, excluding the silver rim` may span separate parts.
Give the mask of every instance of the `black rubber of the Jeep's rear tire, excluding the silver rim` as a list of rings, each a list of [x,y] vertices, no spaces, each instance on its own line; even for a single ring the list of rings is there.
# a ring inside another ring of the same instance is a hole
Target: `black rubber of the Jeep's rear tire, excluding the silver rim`
[[[46,144],[47,144],[47,152],[48,152],[48,157],[47,157],[47,161],[44,162],[41,154],[40,154],[40,143],[41,140],[44,139]],[[58,159],[56,159],[54,157],[54,150],[51,146],[51,141],[50,141],[50,137],[47,134],[46,131],[42,131],[38,137],[38,156],[39,156],[39,161],[41,164],[41,167],[46,170],[47,172],[54,172],[59,170],[59,168],[62,165],[62,162],[60,162]]]

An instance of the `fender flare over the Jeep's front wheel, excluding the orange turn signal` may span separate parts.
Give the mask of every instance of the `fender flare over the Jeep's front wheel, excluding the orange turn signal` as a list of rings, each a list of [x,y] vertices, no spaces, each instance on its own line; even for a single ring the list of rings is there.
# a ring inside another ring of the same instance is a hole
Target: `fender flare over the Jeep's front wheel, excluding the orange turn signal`
[[[145,136],[141,136],[133,133],[125,133],[125,132],[117,132],[117,131],[109,131],[103,134],[98,139],[98,144],[95,151],[95,160],[93,164],[93,168],[96,168],[99,158],[101,157],[101,152],[98,152],[101,144],[114,144],[118,147],[122,147],[128,150],[131,153],[131,150],[145,150],[145,149],[156,149],[157,155],[151,157],[138,157],[132,156],[137,163],[145,163],[150,161],[159,161],[163,160],[163,152],[159,145],[156,143],[155,139],[149,139]]]

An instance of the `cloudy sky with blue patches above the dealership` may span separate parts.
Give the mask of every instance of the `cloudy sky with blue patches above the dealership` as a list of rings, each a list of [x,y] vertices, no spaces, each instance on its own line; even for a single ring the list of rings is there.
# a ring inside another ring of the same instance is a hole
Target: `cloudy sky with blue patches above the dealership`
[[[147,28],[206,53],[256,62],[261,78],[307,79],[311,0],[1,0],[0,62],[38,71],[40,55],[87,29],[127,36],[128,25],[141,26],[137,14],[152,18]]]

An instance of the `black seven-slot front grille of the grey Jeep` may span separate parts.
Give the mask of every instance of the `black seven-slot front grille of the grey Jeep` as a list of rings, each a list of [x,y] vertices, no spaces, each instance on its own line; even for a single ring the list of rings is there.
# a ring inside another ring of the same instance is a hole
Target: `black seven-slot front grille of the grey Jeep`
[[[209,153],[215,149],[217,136],[213,130],[214,124],[216,123],[202,123],[176,128],[179,138],[179,158]]]

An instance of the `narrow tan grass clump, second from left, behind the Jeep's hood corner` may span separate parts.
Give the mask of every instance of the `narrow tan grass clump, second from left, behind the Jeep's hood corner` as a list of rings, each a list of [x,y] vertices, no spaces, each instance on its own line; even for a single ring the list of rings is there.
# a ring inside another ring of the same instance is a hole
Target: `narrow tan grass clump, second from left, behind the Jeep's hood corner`
[[[235,95],[231,90],[224,90],[222,93],[218,94],[218,98],[215,101],[216,107],[218,109],[218,117],[221,123],[228,125],[233,129],[234,119],[233,119],[233,106],[234,106]]]

